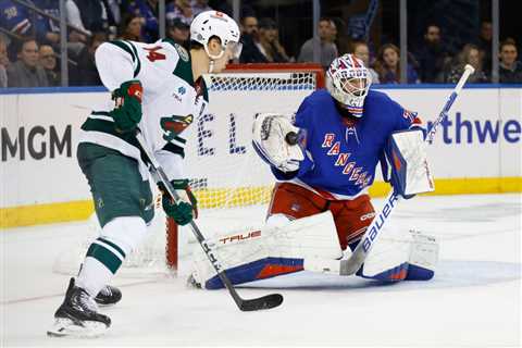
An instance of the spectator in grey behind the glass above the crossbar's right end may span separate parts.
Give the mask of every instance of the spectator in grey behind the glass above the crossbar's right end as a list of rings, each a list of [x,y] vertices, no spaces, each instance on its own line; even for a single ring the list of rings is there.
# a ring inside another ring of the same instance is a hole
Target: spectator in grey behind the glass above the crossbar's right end
[[[332,21],[330,18],[321,18],[319,21],[319,39],[320,39],[320,62],[326,70],[334,59],[337,58],[337,46],[332,40]],[[299,62],[313,62],[313,37],[308,39],[300,49]]]

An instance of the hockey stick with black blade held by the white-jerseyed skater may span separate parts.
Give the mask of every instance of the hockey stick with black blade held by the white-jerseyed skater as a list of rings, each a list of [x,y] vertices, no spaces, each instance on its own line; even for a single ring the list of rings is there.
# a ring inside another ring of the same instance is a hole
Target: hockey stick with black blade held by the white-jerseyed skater
[[[176,190],[172,187],[171,182],[169,181],[169,177],[166,176],[165,172],[161,167],[161,165],[158,163],[156,160],[154,156],[150,152],[147,142],[141,135],[139,130],[136,132],[136,139],[138,140],[141,149],[144,152],[147,154],[147,158],[149,159],[150,163],[152,164],[152,170],[156,172],[158,177],[161,179],[163,185],[165,186],[166,190],[171,195],[171,197],[174,199],[176,203],[181,201],[179,196],[177,195]],[[212,263],[212,266],[214,268],[215,272],[217,273],[217,276],[223,282],[225,285],[226,289],[231,294],[232,298],[236,302],[237,307],[241,311],[258,311],[262,309],[271,309],[274,307],[279,306],[283,303],[283,296],[281,294],[271,294],[266,295],[263,297],[259,298],[253,298],[253,299],[243,299],[239,294],[237,294],[236,289],[231,283],[231,279],[225,274],[225,270],[223,270],[223,266],[221,265],[220,261],[215,258],[214,252],[210,248],[209,244],[204,239],[203,235],[201,234],[201,231],[199,229],[198,225],[192,221],[190,221],[190,227],[194,232],[194,235],[196,236],[196,239],[198,239],[199,245],[203,249],[204,253],[210,260],[210,263]]]

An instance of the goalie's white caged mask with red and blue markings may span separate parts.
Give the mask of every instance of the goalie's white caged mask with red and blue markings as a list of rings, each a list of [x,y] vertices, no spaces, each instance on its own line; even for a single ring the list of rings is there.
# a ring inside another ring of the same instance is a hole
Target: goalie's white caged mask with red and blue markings
[[[326,72],[326,89],[350,114],[362,116],[362,107],[372,84],[364,63],[353,54],[336,58]]]

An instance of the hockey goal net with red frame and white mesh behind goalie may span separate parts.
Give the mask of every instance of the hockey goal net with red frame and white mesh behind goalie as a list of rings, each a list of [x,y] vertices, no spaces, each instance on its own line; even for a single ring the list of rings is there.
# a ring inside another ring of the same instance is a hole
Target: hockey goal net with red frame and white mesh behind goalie
[[[316,64],[231,64],[224,73],[208,75],[206,80],[208,112],[184,134],[185,174],[198,199],[196,222],[206,237],[259,228],[274,178],[251,146],[253,119],[262,112],[295,113],[304,97],[324,86],[323,70]],[[88,236],[60,256],[55,272],[77,272],[90,241],[99,234],[96,216],[89,224]],[[127,256],[120,273],[171,273],[181,266],[179,259],[199,247],[188,227],[178,228],[160,204],[149,231],[150,236]]]

